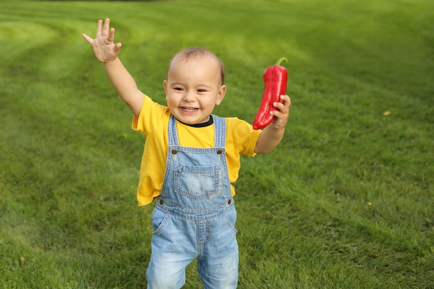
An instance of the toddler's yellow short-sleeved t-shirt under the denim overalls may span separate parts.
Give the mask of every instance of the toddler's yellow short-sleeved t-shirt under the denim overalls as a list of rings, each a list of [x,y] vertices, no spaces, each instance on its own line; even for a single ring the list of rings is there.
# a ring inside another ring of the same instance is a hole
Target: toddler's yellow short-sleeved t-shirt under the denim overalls
[[[137,188],[139,206],[152,202],[159,196],[164,181],[168,150],[168,107],[159,105],[145,96],[139,117],[132,119],[132,129],[146,135],[144,154],[141,158],[140,179]],[[214,146],[214,124],[204,128],[193,128],[176,122],[180,146],[209,148]],[[235,117],[226,118],[226,159],[232,195],[232,183],[238,179],[240,155],[254,156],[261,130]]]

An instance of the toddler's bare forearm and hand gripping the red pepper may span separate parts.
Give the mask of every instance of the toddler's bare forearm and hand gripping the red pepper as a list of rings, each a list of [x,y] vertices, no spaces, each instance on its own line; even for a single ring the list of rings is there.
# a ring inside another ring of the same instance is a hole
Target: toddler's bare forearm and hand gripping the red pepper
[[[281,139],[284,137],[290,104],[289,96],[281,96],[281,102],[274,104],[278,109],[271,112],[271,114],[275,116],[275,119],[273,119],[272,123],[264,128],[261,134],[259,134],[259,139],[256,148],[254,148],[254,152],[258,154],[266,154],[277,147]]]

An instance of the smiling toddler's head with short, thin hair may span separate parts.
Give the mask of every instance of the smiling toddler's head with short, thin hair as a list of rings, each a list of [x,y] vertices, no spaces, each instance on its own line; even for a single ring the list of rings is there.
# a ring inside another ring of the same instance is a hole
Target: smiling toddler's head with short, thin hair
[[[173,60],[164,80],[171,113],[183,123],[209,121],[209,115],[225,96],[220,66],[210,57]]]

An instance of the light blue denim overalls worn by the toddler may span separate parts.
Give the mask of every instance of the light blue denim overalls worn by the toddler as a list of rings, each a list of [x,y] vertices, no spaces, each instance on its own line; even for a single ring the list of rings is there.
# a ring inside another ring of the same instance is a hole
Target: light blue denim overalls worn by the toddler
[[[193,259],[206,289],[236,288],[236,211],[225,157],[226,125],[225,119],[212,117],[213,148],[180,146],[175,117],[170,117],[166,174],[152,216],[148,288],[181,288]]]

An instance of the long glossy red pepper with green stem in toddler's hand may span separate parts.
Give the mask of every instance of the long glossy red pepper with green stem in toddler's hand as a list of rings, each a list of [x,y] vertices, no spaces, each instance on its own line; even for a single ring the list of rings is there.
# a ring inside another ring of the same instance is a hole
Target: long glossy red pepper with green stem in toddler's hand
[[[288,81],[288,72],[285,67],[280,64],[287,61],[286,58],[277,60],[275,66],[268,67],[263,73],[263,82],[265,88],[263,89],[262,101],[259,106],[259,111],[253,121],[253,129],[259,130],[265,128],[272,122],[274,116],[270,114],[272,110],[277,110],[273,103],[280,102],[280,96],[286,94],[286,82]]]

